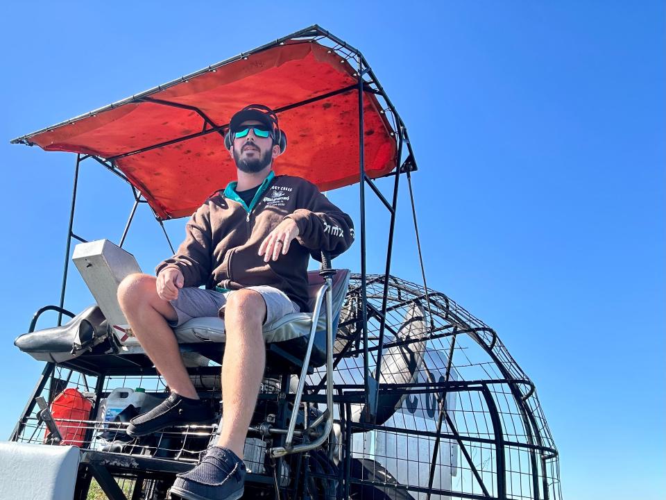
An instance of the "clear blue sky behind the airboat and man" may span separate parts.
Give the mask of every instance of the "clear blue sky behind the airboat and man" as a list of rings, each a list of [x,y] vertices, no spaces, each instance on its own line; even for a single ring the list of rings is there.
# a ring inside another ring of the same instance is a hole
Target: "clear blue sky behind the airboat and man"
[[[58,302],[74,160],[9,140],[318,23],[361,49],[407,124],[428,284],[493,326],[536,383],[564,497],[663,498],[663,2],[281,4],[3,8],[0,436],[41,370],[12,340]],[[418,282],[404,194],[393,273]],[[355,190],[331,197],[357,213]],[[87,165],[78,203],[76,233],[118,240],[126,186]],[[150,271],[168,248],[137,217],[127,245]],[[341,263],[358,269],[355,252]],[[66,306],[80,310],[75,274]]]

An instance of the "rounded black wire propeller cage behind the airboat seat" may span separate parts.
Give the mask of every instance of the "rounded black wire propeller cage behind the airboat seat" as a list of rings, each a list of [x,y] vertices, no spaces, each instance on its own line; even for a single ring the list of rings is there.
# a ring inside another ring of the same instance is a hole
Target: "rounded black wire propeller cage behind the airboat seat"
[[[386,287],[383,275],[368,276],[366,290],[367,370],[379,389],[375,422],[364,405],[348,409],[352,497],[560,499],[533,383],[495,331],[444,294],[393,276]],[[345,390],[366,388],[361,297],[353,275],[334,347],[334,381]]]

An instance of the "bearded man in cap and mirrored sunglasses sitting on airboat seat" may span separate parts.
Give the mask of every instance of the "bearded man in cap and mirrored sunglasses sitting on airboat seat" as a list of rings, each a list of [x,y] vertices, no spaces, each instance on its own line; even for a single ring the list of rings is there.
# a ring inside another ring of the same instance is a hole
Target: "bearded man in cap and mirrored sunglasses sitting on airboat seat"
[[[185,499],[242,495],[244,443],[266,357],[262,324],[307,312],[310,253],[339,255],[353,241],[350,217],[315,185],[274,175],[273,160],[286,146],[278,118],[266,106],[236,113],[225,147],[236,163],[237,182],[196,210],[176,255],[157,266],[157,278],[132,274],[118,290],[134,335],[171,390],[160,406],[130,421],[130,435],[212,418],[172,328],[193,317],[219,315],[225,322],[223,426],[203,462],[176,479],[171,491]]]

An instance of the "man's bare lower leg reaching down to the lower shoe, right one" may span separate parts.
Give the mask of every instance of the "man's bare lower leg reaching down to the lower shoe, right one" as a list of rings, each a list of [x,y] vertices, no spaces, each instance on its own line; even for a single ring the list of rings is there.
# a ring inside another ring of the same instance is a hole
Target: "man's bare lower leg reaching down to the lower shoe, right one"
[[[264,377],[262,322],[266,303],[254,290],[238,290],[225,307],[227,342],[222,360],[223,420],[217,446],[243,458],[245,438]]]

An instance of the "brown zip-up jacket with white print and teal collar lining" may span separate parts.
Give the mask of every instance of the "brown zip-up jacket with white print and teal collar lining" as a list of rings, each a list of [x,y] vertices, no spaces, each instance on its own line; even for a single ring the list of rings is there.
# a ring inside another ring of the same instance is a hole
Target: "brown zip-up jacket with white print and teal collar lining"
[[[264,263],[259,246],[285,218],[296,222],[298,237],[287,255]],[[225,191],[207,199],[187,222],[185,241],[176,255],[157,265],[155,275],[165,267],[177,267],[185,287],[239,290],[268,285],[307,311],[309,255],[321,260],[324,250],[337,256],[353,240],[352,219],[314,184],[299,177],[275,176],[249,213],[244,205],[225,197]]]

